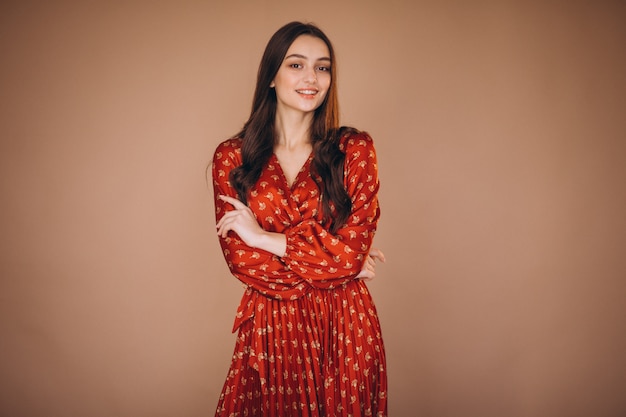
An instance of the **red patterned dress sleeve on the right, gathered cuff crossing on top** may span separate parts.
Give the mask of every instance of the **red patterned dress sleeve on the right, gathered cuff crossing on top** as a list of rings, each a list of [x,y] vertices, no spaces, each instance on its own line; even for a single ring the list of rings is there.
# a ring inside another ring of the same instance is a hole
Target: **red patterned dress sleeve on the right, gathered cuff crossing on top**
[[[378,165],[372,138],[359,133],[342,143],[346,152],[344,185],[352,200],[348,221],[336,234],[315,220],[286,231],[282,260],[309,284],[333,288],[361,271],[380,216]]]

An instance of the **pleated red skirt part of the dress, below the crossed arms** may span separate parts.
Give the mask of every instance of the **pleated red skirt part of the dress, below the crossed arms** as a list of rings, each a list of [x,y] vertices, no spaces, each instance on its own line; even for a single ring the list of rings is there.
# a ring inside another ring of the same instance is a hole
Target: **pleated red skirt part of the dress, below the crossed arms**
[[[216,417],[387,416],[385,349],[364,282],[296,300],[254,293],[248,305]]]

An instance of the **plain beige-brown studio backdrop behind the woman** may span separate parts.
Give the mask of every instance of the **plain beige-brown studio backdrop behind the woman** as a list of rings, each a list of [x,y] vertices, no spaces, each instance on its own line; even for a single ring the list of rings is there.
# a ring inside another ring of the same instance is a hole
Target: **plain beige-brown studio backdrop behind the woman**
[[[204,170],[294,19],[379,152],[390,415],[625,415],[626,7],[570,3],[3,1],[0,415],[212,415]]]

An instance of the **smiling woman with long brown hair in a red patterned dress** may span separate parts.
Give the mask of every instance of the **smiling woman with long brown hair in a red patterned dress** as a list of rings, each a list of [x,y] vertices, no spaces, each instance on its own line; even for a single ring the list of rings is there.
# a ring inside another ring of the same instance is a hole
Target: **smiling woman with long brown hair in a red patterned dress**
[[[270,39],[252,112],[213,158],[217,233],[246,287],[216,416],[386,416],[364,283],[382,253],[372,139],[338,127],[335,56],[299,22]],[[369,255],[368,255],[369,254]]]

